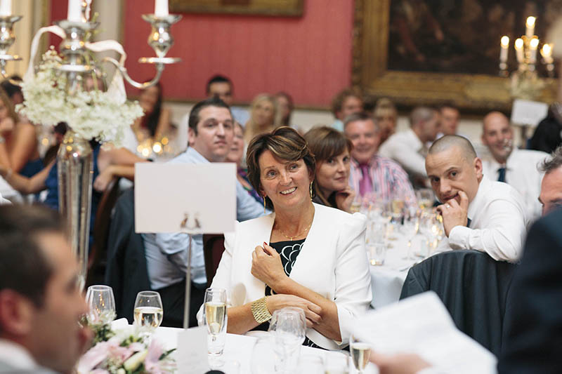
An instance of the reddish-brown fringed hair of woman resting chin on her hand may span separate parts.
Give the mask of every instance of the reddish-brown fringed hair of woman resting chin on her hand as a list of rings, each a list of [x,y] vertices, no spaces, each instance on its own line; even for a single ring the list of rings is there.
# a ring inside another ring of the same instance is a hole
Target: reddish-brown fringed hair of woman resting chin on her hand
[[[315,127],[304,134],[308,147],[314,154],[316,163],[339,156],[347,149],[351,152],[353,144],[346,135],[328,126]]]

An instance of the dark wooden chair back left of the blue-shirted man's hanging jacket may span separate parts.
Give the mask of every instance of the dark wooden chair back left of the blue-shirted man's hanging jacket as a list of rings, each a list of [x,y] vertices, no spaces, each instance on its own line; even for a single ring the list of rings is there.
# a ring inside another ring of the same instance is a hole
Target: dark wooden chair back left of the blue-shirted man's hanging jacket
[[[113,178],[101,196],[93,222],[93,244],[88,258],[88,279],[86,285],[103,283],[107,262],[107,236],[110,231],[111,213],[119,197],[119,180]]]

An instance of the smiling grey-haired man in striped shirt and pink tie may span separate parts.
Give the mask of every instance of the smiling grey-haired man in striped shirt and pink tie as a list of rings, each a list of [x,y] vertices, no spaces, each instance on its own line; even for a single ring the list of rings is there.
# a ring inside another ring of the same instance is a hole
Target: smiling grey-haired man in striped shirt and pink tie
[[[414,189],[403,168],[395,161],[377,155],[379,128],[366,113],[346,118],[346,137],[351,140],[349,185],[359,196],[374,194],[377,199],[400,199],[407,206],[417,206]]]

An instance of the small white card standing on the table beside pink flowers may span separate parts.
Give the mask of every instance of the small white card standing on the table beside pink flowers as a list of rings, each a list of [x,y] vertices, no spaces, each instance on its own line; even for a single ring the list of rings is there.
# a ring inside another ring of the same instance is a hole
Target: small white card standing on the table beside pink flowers
[[[209,371],[207,326],[181,330],[176,351],[178,374],[202,374]]]

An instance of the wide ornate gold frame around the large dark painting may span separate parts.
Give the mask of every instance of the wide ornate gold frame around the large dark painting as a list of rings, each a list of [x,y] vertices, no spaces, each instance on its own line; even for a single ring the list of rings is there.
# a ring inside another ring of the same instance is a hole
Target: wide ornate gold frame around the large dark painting
[[[391,0],[355,0],[353,86],[367,96],[391,98],[405,107],[452,103],[473,112],[511,108],[513,98],[507,78],[387,69],[390,6]],[[534,99],[554,102],[556,80],[545,81],[545,88]]]

